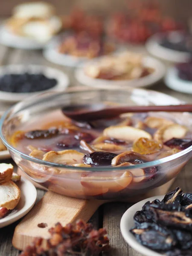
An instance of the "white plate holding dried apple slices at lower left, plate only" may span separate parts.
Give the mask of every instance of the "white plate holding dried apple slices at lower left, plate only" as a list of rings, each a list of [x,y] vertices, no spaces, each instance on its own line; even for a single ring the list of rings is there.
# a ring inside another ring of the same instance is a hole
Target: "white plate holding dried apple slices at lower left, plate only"
[[[8,226],[18,219],[26,215],[35,204],[37,198],[37,190],[29,181],[21,178],[21,181],[16,183],[21,190],[20,201],[15,207],[15,210],[4,218],[0,219],[0,228]]]

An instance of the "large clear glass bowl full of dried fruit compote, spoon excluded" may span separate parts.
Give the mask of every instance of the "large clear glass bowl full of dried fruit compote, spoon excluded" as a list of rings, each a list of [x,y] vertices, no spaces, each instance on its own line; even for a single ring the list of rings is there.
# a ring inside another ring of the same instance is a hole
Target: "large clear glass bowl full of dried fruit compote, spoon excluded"
[[[17,103],[0,120],[0,137],[19,168],[41,186],[75,198],[129,200],[176,177],[192,157],[190,113],[124,113],[78,122],[64,115],[64,108],[90,102],[181,103],[150,90],[87,87]]]

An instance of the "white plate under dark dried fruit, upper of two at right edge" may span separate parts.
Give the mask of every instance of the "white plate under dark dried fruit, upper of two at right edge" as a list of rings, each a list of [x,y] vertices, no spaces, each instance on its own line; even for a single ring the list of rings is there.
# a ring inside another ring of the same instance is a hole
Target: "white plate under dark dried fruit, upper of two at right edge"
[[[160,45],[162,34],[158,33],[151,36],[145,44],[148,52],[157,58],[171,62],[186,62],[190,58],[188,52],[175,51]]]

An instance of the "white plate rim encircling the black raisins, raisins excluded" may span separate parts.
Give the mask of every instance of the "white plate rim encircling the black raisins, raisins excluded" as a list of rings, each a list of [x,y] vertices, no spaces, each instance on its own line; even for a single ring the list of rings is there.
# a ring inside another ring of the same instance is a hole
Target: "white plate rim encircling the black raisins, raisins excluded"
[[[30,64],[29,65],[24,65],[24,64],[8,65],[8,66],[0,67],[0,76],[9,74],[9,73],[20,74],[25,72],[29,72],[32,74],[43,73],[48,78],[55,78],[57,80],[57,84],[49,90],[42,90],[34,93],[8,93],[8,92],[0,91],[1,101],[18,102],[23,99],[26,99],[26,97],[35,96],[38,93],[48,92],[51,90],[64,91],[69,85],[68,76],[65,73],[63,73],[61,70],[57,70],[51,67],[41,66],[41,65],[30,65]]]

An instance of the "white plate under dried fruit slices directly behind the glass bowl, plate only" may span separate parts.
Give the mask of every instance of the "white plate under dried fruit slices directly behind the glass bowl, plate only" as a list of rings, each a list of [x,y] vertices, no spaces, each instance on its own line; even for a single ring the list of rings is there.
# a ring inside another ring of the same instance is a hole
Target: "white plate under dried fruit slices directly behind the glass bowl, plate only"
[[[100,57],[102,58],[102,57]],[[98,62],[100,58],[95,58],[92,61],[87,62],[85,65],[88,65],[89,63]],[[109,89],[112,87],[120,87],[120,86],[126,86],[126,87],[148,87],[160,79],[163,78],[165,75],[165,67],[164,65],[156,60],[155,58],[151,58],[149,56],[146,56],[143,58],[143,64],[146,67],[152,67],[154,68],[154,72],[151,73],[148,76],[139,78],[139,79],[132,79],[132,80],[119,80],[119,81],[111,81],[111,80],[105,80],[105,79],[93,79],[89,76],[87,76],[84,73],[84,67],[79,67],[75,71],[75,77],[77,81],[79,81],[81,84],[85,84],[87,86],[91,87],[100,87],[103,89]]]

